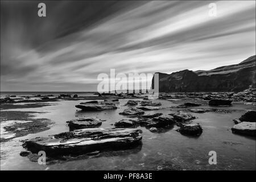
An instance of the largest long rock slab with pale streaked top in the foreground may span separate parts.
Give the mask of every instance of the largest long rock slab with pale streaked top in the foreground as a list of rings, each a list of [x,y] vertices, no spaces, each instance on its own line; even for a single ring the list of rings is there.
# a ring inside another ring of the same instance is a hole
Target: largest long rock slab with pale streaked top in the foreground
[[[26,140],[22,146],[36,154],[45,151],[49,156],[122,150],[141,144],[141,133],[138,129],[82,129]]]

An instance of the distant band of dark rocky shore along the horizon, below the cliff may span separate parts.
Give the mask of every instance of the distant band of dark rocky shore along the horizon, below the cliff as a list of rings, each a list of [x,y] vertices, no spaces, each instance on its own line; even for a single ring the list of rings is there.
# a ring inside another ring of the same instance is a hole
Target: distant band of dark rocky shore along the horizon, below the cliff
[[[44,102],[56,102],[63,100],[79,101],[79,100],[118,100],[118,99],[131,99],[127,105],[137,105],[136,102],[133,102],[133,99],[142,98],[148,100],[147,94],[141,93],[129,93],[129,94],[102,94],[95,93],[98,96],[77,96],[77,94],[60,94],[59,96],[48,95],[44,96],[22,96],[21,98],[15,97],[5,97],[0,99],[1,107],[5,104],[26,104],[26,103],[44,103]],[[29,98],[37,98],[36,100],[30,100]],[[180,99],[180,98],[198,98],[200,100],[210,101],[210,105],[216,105],[214,102],[218,100],[232,100],[233,102],[251,102],[255,105],[256,103],[256,89],[249,88],[243,90],[242,92],[170,92],[170,93],[160,93],[159,99],[171,100],[171,99]],[[221,105],[230,105],[231,102],[226,101],[227,103]],[[144,105],[145,104],[145,105]],[[147,101],[142,102],[141,106],[159,106],[158,103],[147,104]]]

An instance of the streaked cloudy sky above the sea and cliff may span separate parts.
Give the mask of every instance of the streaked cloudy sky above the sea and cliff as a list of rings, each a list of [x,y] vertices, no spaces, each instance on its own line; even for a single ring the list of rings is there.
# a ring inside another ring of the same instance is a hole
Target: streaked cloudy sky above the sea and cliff
[[[1,92],[96,91],[110,69],[209,70],[253,55],[255,1],[1,1]]]

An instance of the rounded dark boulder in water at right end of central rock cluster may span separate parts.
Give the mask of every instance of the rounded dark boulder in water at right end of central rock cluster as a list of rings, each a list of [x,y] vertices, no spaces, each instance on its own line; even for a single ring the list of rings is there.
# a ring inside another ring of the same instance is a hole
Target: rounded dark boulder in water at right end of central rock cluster
[[[201,135],[203,132],[202,127],[199,125],[199,123],[190,123],[181,125],[180,129],[177,130],[183,135]]]

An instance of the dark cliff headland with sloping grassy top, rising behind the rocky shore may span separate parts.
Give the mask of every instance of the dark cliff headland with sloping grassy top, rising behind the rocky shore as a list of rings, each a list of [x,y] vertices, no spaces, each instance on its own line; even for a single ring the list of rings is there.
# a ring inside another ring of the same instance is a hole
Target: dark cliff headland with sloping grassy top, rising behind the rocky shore
[[[210,71],[159,73],[159,92],[240,92],[255,88],[255,63],[255,56],[251,56],[239,64]]]

